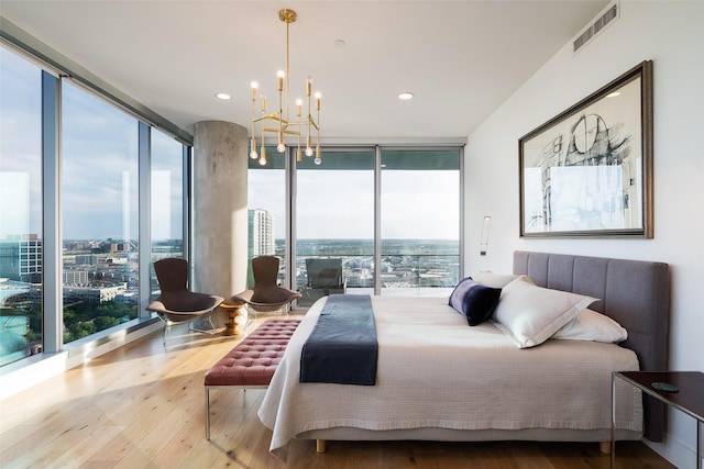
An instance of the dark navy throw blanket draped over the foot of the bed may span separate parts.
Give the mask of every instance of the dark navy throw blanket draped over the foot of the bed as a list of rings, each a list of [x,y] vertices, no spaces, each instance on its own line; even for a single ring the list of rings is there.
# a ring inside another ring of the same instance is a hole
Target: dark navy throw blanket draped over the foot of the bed
[[[369,294],[332,294],[300,354],[300,382],[376,383],[376,324]]]

